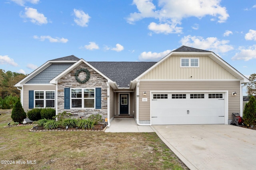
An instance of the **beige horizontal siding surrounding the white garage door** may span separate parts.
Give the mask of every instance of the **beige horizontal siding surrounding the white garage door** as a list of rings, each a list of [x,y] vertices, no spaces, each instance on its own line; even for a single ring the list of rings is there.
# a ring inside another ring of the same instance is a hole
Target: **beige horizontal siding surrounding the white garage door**
[[[228,119],[233,119],[232,113],[240,113],[240,81],[140,81],[139,120],[150,120],[150,91],[226,91],[228,90]],[[147,96],[143,96],[143,92]],[[236,96],[232,96],[236,92]],[[142,98],[148,102],[142,102]]]

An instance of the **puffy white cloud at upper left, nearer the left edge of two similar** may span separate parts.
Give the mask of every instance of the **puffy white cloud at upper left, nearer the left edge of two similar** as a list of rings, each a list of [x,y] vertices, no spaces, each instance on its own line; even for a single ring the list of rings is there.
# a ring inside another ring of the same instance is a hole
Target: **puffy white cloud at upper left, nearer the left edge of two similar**
[[[38,25],[48,23],[44,14],[38,13],[38,11],[34,8],[25,8],[25,14],[21,14],[20,16],[23,18],[29,18],[32,23],[36,23]]]

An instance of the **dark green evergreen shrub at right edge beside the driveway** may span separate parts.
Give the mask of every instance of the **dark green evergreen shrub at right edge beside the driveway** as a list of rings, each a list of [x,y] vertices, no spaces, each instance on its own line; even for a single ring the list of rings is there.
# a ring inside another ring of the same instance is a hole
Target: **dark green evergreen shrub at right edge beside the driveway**
[[[256,100],[254,96],[250,97],[249,102],[244,107],[243,112],[244,124],[254,126],[256,121]]]

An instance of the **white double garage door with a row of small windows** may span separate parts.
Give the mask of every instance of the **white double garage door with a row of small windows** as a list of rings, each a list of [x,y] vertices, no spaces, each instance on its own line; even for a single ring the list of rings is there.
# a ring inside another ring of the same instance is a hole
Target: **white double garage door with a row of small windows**
[[[152,93],[152,125],[224,124],[225,93]]]

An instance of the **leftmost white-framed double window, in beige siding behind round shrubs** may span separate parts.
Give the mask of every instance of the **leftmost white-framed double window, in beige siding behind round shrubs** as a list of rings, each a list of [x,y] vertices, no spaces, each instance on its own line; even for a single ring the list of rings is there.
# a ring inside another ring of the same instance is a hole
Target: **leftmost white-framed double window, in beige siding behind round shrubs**
[[[55,91],[35,91],[35,107],[55,107]]]

